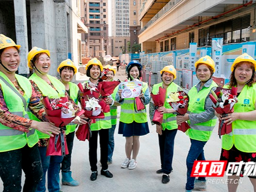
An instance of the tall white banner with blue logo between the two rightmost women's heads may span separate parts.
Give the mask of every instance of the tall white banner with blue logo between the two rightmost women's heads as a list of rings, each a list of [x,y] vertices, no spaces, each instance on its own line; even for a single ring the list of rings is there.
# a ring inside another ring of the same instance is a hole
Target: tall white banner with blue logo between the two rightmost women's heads
[[[221,60],[222,60],[222,46],[223,38],[212,38],[211,50],[212,59],[215,62],[215,73],[214,76],[221,77]]]

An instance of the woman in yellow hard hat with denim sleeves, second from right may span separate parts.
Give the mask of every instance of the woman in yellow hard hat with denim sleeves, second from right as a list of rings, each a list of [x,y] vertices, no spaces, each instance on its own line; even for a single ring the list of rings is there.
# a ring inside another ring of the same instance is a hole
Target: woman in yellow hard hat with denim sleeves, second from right
[[[209,98],[211,90],[218,86],[212,79],[215,72],[214,61],[207,55],[195,62],[196,77],[200,81],[189,91],[188,113],[184,116],[177,115],[177,124],[188,121],[190,128],[186,134],[190,137],[191,146],[187,156],[187,183],[186,192],[192,190],[206,190],[205,177],[191,177],[192,167],[195,160],[205,160],[204,146],[210,139],[213,128],[216,125],[216,118],[213,102]]]

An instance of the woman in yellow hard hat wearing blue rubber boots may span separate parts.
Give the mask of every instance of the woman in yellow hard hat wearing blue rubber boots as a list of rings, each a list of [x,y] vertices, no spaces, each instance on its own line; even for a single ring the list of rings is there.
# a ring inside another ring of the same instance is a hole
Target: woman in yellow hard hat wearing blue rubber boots
[[[57,68],[61,76],[61,82],[65,85],[66,93],[72,98],[72,100],[78,104],[78,91],[79,88],[75,83],[72,83],[74,75],[77,73],[76,65],[70,60],[64,60]],[[73,149],[75,130],[77,125],[71,123],[66,126],[66,143],[68,148],[68,154],[64,156],[62,160],[62,184],[69,186],[79,186],[79,182],[72,178],[70,166],[71,166],[71,154]]]

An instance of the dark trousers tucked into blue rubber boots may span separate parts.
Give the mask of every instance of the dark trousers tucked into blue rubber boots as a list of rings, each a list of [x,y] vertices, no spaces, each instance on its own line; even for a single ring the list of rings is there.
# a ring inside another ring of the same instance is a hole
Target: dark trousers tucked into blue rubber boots
[[[74,137],[75,137],[75,131],[68,133],[66,135],[66,142],[67,142],[67,148],[68,148],[68,154],[64,156],[62,160],[62,166],[61,170],[62,172],[69,172],[71,167],[71,154],[74,144]]]

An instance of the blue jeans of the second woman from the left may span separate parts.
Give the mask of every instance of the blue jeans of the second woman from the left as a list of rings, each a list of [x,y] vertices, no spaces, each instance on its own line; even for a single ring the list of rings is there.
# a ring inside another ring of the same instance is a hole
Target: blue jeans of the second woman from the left
[[[60,169],[62,156],[46,156],[47,147],[38,147],[44,176],[39,182],[36,192],[46,192],[46,172],[48,171],[48,191],[59,192],[60,191]]]

